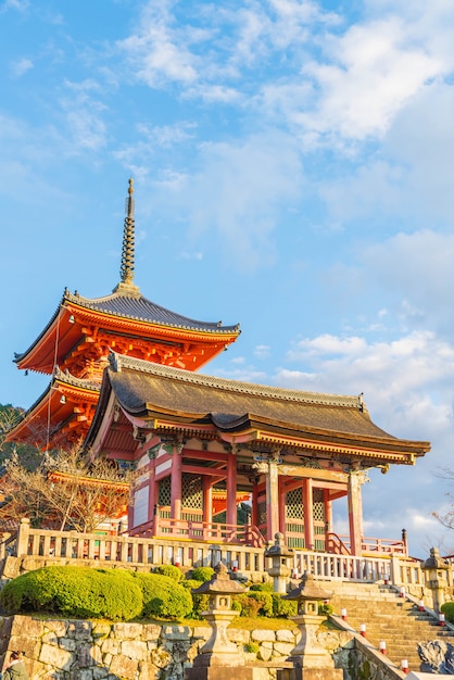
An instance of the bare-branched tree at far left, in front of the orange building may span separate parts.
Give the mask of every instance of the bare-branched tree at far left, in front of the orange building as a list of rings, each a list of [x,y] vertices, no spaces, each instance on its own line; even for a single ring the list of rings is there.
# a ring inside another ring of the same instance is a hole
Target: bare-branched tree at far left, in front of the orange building
[[[3,465],[7,503],[0,524],[28,517],[35,528],[90,532],[126,513],[134,473],[105,458],[90,463],[80,448],[47,452],[36,469],[28,469],[17,452]]]

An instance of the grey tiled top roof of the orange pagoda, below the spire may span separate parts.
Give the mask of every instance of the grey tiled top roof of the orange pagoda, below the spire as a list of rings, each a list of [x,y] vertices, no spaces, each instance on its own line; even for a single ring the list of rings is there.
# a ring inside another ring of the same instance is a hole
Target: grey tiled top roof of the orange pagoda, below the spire
[[[111,293],[104,298],[96,298],[90,300],[79,294],[66,293],[65,299],[79,306],[103,314],[112,314],[113,316],[123,316],[134,318],[150,324],[160,324],[163,326],[173,326],[175,328],[186,328],[188,330],[198,330],[202,332],[215,333],[232,333],[239,331],[239,325],[223,326],[222,322],[200,322],[188,316],[182,316],[176,312],[171,312],[161,305],[151,302],[142,294],[125,294],[122,291]]]

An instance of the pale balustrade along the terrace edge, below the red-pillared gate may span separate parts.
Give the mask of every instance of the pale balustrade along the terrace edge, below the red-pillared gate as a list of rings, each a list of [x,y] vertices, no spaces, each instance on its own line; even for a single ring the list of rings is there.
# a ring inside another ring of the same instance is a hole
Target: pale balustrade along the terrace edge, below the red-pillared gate
[[[228,525],[222,526],[228,529]],[[228,543],[222,536],[213,537],[210,541],[187,534],[178,538],[146,538],[77,533],[31,529],[28,519],[21,521],[16,533],[3,534],[0,539],[0,559],[9,555],[30,557],[37,565],[71,564],[83,559],[90,565],[109,562],[112,566],[127,563],[133,568],[161,564],[191,568],[214,567],[223,561],[232,570],[263,572],[270,566],[264,552],[263,545]],[[293,575],[307,572],[320,580],[388,581],[395,585],[425,583],[421,563],[399,553],[389,553],[388,556],[352,556],[295,550],[293,558],[289,559],[289,566],[292,567]],[[451,569],[449,584],[453,584]]]

